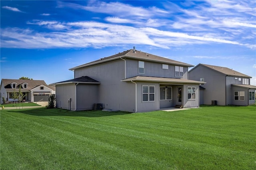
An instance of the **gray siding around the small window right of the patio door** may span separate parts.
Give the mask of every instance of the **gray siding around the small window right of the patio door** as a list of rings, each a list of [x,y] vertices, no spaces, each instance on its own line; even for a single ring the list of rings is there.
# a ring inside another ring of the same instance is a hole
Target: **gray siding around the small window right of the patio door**
[[[196,87],[196,99],[188,100],[188,87]],[[182,104],[185,108],[198,108],[199,107],[199,85],[198,84],[184,84]]]

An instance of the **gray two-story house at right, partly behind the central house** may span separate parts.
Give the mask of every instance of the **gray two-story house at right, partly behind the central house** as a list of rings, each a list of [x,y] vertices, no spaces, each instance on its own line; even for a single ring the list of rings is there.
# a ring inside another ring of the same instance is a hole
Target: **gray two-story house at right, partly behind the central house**
[[[227,67],[198,64],[188,72],[189,79],[204,81],[200,85],[200,105],[255,104],[256,86],[250,85],[250,76]]]

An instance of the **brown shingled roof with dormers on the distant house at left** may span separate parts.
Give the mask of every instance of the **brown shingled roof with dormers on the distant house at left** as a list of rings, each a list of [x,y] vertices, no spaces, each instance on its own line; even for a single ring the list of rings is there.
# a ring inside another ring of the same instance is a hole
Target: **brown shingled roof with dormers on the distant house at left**
[[[44,80],[20,80],[20,79],[2,79],[2,85],[4,86],[5,89],[12,89],[11,84],[12,83],[17,83],[16,85],[16,89],[20,88],[20,85],[22,85],[23,83],[27,84],[27,88],[24,90],[31,90],[33,89],[35,86],[40,86],[40,85],[44,85],[52,90],[55,90],[55,87],[53,86],[48,86]],[[23,87],[22,87],[23,89]]]

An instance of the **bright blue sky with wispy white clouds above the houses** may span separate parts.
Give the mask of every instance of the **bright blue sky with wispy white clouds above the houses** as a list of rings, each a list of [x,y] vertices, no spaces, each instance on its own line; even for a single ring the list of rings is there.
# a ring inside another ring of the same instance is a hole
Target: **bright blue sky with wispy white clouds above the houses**
[[[256,85],[256,1],[0,1],[1,79],[47,84],[132,49],[232,68]]]

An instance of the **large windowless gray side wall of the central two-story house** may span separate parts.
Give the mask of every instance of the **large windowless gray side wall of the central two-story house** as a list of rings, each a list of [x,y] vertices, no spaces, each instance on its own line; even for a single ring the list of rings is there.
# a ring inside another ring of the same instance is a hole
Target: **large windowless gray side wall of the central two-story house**
[[[74,78],[89,76],[100,81],[97,103],[102,103],[105,109],[135,111],[135,84],[121,81],[125,79],[124,60],[76,69],[74,75]]]

